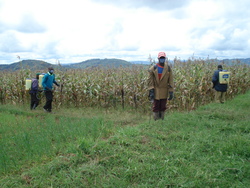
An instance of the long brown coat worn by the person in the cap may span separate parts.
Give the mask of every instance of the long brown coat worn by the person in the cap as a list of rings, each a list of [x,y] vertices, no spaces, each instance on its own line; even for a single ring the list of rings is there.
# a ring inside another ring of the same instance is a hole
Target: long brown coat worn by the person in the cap
[[[154,89],[155,99],[167,99],[168,93],[174,91],[173,73],[172,69],[167,63],[164,64],[161,79],[158,77],[158,69],[152,66],[148,70],[148,89]]]

